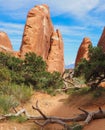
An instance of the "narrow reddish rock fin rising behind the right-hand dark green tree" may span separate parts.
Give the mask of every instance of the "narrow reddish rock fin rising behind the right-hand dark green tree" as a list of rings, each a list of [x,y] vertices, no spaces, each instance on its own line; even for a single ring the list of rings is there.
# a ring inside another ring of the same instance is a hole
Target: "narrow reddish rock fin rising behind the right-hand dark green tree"
[[[84,38],[77,53],[75,66],[77,66],[77,64],[81,61],[82,58],[88,60],[89,45],[92,45],[90,39]]]

